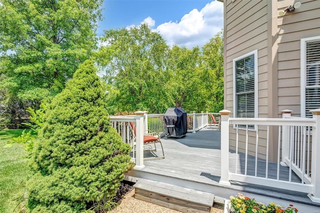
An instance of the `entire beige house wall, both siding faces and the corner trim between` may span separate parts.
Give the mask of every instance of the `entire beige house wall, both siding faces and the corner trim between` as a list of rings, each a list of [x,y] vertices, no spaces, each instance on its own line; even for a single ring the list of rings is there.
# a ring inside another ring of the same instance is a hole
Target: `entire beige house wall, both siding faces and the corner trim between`
[[[300,1],[291,13],[278,11]],[[257,49],[258,117],[281,117],[281,110],[300,115],[300,39],[320,35],[320,0],[224,0],[224,106],[234,116],[232,60]],[[230,127],[230,148],[235,129]],[[244,151],[245,131],[239,130]],[[248,153],[255,151],[255,131],[249,130]],[[258,156],[266,152],[266,127],[259,126]],[[269,131],[269,159],[275,159],[277,129]]]

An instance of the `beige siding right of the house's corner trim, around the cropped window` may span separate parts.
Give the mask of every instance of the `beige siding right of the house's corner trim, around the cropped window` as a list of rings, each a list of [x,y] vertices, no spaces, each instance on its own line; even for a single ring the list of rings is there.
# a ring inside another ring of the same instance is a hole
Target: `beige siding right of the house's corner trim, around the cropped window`
[[[278,0],[278,10],[297,0]],[[320,35],[320,1],[299,0],[301,6],[277,18],[278,116],[282,109],[300,116],[300,39]]]

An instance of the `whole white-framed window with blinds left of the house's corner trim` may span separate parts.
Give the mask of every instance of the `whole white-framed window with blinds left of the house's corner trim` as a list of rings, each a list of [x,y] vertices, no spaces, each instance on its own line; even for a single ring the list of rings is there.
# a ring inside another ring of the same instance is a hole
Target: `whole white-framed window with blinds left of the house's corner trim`
[[[233,110],[234,117],[257,117],[257,50],[233,59]]]

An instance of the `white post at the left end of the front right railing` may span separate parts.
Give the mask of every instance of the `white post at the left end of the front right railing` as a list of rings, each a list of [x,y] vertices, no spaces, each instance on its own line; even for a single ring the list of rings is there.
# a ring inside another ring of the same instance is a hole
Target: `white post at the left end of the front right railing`
[[[219,112],[221,122],[221,176],[219,184],[231,185],[229,181],[229,113],[231,111],[223,109]]]

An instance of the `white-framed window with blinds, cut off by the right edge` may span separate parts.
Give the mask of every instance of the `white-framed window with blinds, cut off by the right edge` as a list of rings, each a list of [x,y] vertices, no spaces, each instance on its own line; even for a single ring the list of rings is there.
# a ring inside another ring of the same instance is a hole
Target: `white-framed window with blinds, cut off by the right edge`
[[[301,39],[301,117],[320,108],[320,36]]]

